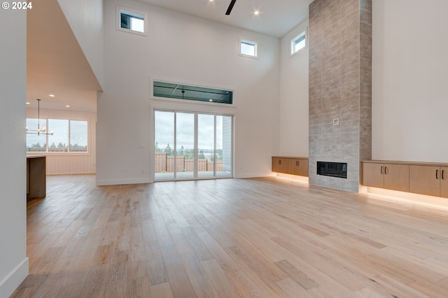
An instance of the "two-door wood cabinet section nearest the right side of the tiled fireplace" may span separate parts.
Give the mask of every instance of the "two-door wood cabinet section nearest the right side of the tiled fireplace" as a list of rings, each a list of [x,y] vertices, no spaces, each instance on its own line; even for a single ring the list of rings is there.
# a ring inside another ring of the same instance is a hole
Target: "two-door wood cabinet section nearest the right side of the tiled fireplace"
[[[363,162],[363,185],[409,192],[409,165]]]

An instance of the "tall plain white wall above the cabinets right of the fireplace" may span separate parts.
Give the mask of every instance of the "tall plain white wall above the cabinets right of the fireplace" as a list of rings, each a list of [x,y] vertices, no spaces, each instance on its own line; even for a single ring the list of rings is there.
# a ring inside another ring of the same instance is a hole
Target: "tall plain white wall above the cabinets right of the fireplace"
[[[448,162],[448,1],[372,2],[372,158]]]

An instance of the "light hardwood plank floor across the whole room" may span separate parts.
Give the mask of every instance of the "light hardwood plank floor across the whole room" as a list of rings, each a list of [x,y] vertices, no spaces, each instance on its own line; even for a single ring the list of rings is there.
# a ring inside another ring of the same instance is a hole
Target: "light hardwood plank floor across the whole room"
[[[49,176],[27,208],[12,297],[448,297],[446,206],[280,178]]]

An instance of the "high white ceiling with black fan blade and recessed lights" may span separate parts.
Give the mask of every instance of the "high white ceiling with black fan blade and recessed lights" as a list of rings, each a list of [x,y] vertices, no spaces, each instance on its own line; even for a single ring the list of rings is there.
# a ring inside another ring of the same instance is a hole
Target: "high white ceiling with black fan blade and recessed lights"
[[[188,13],[214,22],[281,37],[308,17],[314,0],[237,0],[225,15],[230,0],[140,0],[155,6]],[[259,10],[259,15],[253,15]]]

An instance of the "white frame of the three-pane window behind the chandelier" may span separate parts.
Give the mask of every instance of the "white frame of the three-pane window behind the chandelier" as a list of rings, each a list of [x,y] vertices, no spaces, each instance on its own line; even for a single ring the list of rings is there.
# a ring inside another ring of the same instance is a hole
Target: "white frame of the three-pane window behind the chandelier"
[[[33,118],[33,117],[27,117],[27,120],[28,119],[36,119],[36,118]],[[39,150],[36,150],[36,151],[33,151],[33,150],[27,150],[27,142],[25,141],[25,148],[26,148],[26,152],[27,152],[27,154],[31,154],[31,155],[33,155],[33,154],[36,154],[36,153],[38,153],[38,154],[45,154],[45,155],[91,155],[92,154],[92,152],[91,152],[91,150],[92,150],[92,148],[91,148],[91,146],[92,146],[92,143],[91,143],[91,127],[90,127],[90,120],[89,119],[86,119],[86,118],[55,118],[55,117],[45,117],[45,118],[41,118],[40,119],[41,120],[41,123],[43,123],[43,122],[45,122],[45,127],[47,127],[48,128],[48,120],[67,120],[68,121],[68,123],[67,123],[67,129],[68,129],[68,132],[69,132],[69,135],[68,135],[68,144],[67,144],[67,151],[51,151],[51,150],[49,150],[49,148],[50,148],[50,144],[49,144],[49,135],[48,134],[44,134],[44,136],[45,136],[45,150],[42,150],[42,151],[39,151]],[[71,121],[84,121],[84,122],[87,122],[87,132],[86,132],[86,134],[87,134],[87,150],[86,151],[71,151],[70,149],[71,149],[71,144],[70,144],[70,141],[71,141]],[[51,127],[50,127],[50,132],[51,132]]]

